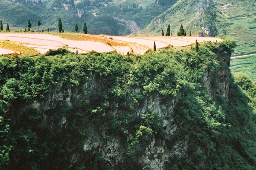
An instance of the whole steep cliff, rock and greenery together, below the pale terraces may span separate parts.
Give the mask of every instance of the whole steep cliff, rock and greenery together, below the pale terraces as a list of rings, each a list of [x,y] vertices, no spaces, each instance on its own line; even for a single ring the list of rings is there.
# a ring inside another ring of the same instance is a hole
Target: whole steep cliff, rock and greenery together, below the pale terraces
[[[12,136],[6,169],[232,167],[216,150],[236,151],[224,137],[233,46],[207,42],[198,54],[142,58],[2,57],[1,112]]]

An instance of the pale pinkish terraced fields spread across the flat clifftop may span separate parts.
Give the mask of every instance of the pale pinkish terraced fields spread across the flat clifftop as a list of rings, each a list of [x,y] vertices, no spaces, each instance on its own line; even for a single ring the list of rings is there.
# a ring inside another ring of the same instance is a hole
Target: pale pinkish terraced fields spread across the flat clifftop
[[[66,46],[70,51],[87,53],[89,51],[110,52],[116,50],[117,53],[126,55],[134,53],[143,55],[150,50],[156,43],[157,48],[164,48],[169,45],[174,47],[186,47],[195,43],[195,40],[203,43],[204,41],[220,42],[221,39],[212,37],[121,37],[106,35],[84,35],[84,34],[28,34],[28,33],[3,33],[0,40],[9,40],[19,43],[24,48],[46,53],[49,49],[58,49]],[[8,46],[6,46],[7,49]],[[10,49],[12,50],[12,49]],[[16,50],[15,50],[16,51]]]

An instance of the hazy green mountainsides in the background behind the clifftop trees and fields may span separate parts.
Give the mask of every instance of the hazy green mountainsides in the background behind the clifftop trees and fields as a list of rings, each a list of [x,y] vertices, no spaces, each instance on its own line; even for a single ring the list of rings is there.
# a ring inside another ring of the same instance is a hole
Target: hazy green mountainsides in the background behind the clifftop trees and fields
[[[18,28],[25,28],[29,18],[35,30],[39,19],[41,28],[57,31],[57,19],[61,17],[65,31],[74,31],[78,23],[81,32],[83,22],[87,22],[89,34],[161,35],[162,29],[166,31],[170,24],[172,33],[177,35],[183,24],[195,36],[233,37],[239,45],[235,54],[256,53],[255,0],[0,0],[0,3],[3,8],[0,20]]]

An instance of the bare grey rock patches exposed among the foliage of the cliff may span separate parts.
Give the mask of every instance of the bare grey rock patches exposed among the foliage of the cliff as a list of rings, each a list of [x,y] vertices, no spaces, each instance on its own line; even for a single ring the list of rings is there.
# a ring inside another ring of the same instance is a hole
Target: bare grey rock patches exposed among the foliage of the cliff
[[[228,100],[230,86],[228,79],[230,73],[228,67],[224,67],[223,65],[229,65],[230,54],[225,53],[223,49],[219,49],[216,53],[220,67],[215,71],[209,71],[207,69],[203,77],[203,82],[213,97],[222,95]],[[84,93],[84,91],[86,91],[86,93]],[[45,113],[62,105],[76,108],[79,105],[83,105],[84,101],[90,103],[91,98],[86,94],[93,96],[99,91],[101,91],[101,84],[97,77],[91,73],[87,82],[84,82],[78,87],[71,87],[64,83],[58,84],[58,87],[52,90],[45,99],[33,102],[31,105],[26,105],[26,107],[22,109],[23,114],[31,108],[37,110],[37,112],[43,115],[41,124],[50,126],[52,133],[59,133],[67,128],[67,123],[72,120],[69,117],[61,116],[58,121],[53,121],[52,117]],[[129,92],[131,96],[123,104],[131,105],[133,96],[140,93],[140,91],[140,88],[132,88]],[[154,137],[145,147],[145,154],[137,159],[137,163],[142,164],[145,169],[166,170],[166,162],[168,162],[170,157],[174,154],[181,155],[187,151],[188,141],[179,141],[173,143],[172,147],[170,147],[168,140],[172,138],[173,133],[177,129],[177,125],[173,121],[173,113],[177,102],[181,100],[183,96],[184,94],[180,93],[173,98],[164,98],[155,93],[146,96],[143,101],[140,102],[140,105],[136,106],[134,113],[132,113],[131,116],[133,119],[136,119],[147,111],[155,111],[163,120],[165,139],[157,139]],[[105,114],[107,115],[108,112],[109,111],[105,111]],[[122,112],[122,108],[111,111],[113,114]],[[17,119],[17,122],[18,121]],[[93,124],[90,125],[89,131],[87,138],[79,141],[83,143],[82,150],[74,149],[69,153],[68,166],[71,170],[75,169],[79,164],[89,163],[88,157],[93,157],[96,154],[101,154],[103,161],[111,165],[111,167],[117,167],[122,164],[122,162],[126,161],[124,156],[126,155],[126,148],[120,137],[109,136],[105,130],[99,130],[99,128]],[[200,148],[198,149],[201,150]],[[201,152],[203,151],[201,150]]]

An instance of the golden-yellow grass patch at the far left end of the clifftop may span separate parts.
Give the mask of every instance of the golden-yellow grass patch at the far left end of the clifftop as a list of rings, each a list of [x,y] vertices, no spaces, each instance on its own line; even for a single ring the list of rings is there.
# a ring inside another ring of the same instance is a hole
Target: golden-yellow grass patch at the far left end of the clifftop
[[[18,44],[17,42],[11,42],[8,40],[0,40],[0,48],[6,48],[14,52],[19,51],[22,55],[33,56],[39,54],[39,51],[29,48],[23,45]]]

